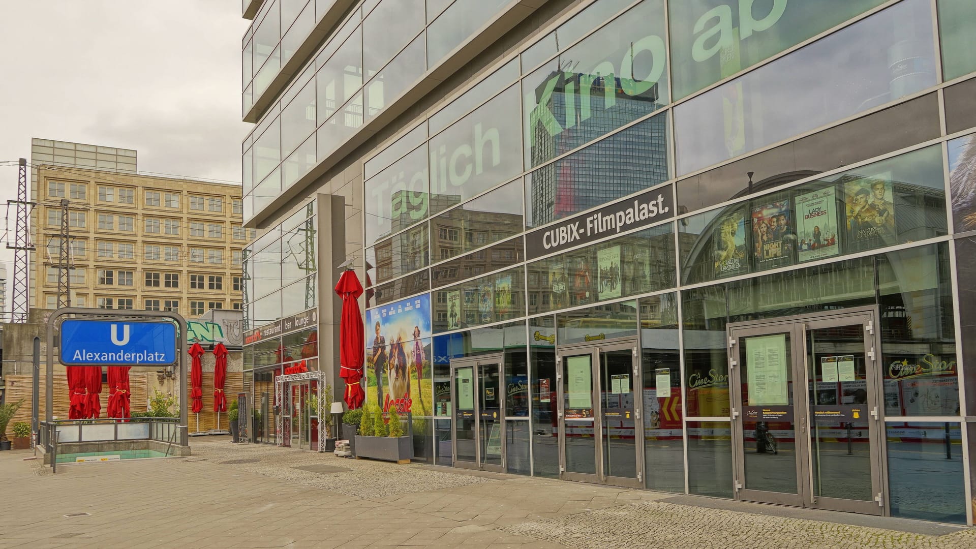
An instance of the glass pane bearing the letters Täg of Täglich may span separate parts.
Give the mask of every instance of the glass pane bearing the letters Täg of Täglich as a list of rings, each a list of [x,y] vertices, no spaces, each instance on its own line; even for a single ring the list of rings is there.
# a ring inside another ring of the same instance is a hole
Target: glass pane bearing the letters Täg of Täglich
[[[366,245],[427,217],[427,146],[366,182]]]

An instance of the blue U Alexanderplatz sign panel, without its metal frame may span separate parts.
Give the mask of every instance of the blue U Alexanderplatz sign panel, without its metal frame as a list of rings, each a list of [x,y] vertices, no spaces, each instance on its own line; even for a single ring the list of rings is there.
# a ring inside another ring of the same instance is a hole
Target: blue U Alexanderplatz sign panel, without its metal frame
[[[87,320],[61,322],[61,363],[71,366],[167,366],[177,362],[173,322]]]

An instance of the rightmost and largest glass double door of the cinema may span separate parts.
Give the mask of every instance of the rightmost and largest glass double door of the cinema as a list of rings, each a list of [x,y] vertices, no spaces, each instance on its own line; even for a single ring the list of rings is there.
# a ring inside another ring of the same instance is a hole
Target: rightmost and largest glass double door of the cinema
[[[881,514],[874,311],[730,326],[739,499]]]

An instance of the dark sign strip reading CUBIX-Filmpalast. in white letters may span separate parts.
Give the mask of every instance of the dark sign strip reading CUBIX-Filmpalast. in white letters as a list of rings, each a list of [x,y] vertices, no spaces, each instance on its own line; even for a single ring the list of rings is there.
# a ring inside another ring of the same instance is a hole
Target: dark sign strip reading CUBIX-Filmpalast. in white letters
[[[672,217],[674,200],[671,185],[665,185],[529,232],[525,235],[525,257],[535,259]]]

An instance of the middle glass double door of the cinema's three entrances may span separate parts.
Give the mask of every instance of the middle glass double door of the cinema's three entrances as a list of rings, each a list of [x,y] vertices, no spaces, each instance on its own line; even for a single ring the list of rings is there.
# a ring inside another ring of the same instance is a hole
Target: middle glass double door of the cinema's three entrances
[[[561,349],[557,372],[560,477],[640,487],[643,441],[636,342]]]

